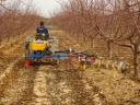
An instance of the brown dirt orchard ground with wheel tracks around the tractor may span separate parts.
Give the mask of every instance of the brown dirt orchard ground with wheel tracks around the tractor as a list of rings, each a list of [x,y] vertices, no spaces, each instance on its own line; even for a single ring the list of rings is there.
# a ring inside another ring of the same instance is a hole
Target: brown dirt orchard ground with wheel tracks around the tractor
[[[58,38],[59,49],[83,50],[82,44],[61,31],[50,35]],[[23,43],[2,50],[1,74],[15,58],[23,56]],[[15,62],[10,74],[0,81],[0,105],[140,105],[140,84],[115,70],[82,71],[66,61],[59,66],[38,63],[24,68],[23,60]]]

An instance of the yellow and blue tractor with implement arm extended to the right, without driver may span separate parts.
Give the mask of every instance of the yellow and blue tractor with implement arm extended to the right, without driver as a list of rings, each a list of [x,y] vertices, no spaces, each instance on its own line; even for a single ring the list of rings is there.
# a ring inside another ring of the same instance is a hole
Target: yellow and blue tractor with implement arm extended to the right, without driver
[[[81,69],[86,69],[92,62],[95,61],[96,56],[90,52],[78,52],[71,48],[65,50],[56,50],[55,38],[50,39],[34,39],[28,37],[25,42],[25,62],[24,66],[28,67],[32,62],[50,61],[59,65],[60,59],[77,59],[80,62]]]

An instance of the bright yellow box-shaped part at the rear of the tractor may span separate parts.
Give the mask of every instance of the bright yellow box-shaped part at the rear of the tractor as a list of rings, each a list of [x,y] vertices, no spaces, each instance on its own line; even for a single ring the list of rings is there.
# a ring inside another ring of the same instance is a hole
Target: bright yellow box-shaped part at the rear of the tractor
[[[45,50],[45,48],[48,46],[47,40],[34,40],[30,44],[31,50]]]

